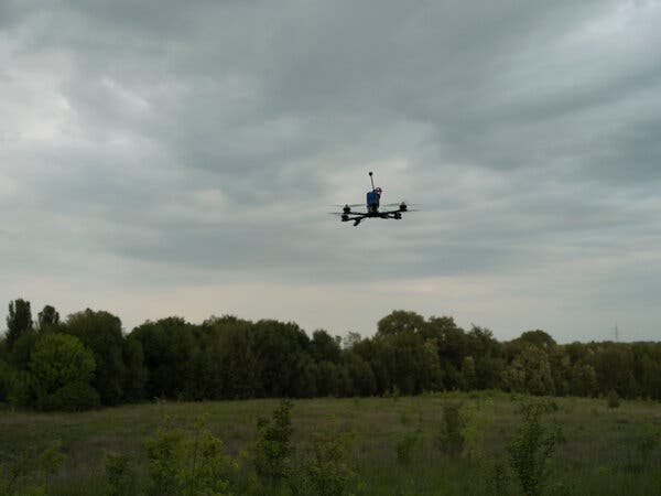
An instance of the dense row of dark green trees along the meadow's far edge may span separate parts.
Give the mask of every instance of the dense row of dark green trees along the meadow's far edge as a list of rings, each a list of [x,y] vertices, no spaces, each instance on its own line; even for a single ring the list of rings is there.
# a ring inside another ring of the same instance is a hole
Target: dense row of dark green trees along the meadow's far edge
[[[61,321],[46,305],[9,304],[0,341],[0,402],[84,410],[154,398],[418,395],[502,389],[532,395],[661,399],[661,343],[560,345],[543,331],[498,342],[449,316],[394,311],[373,337],[295,323],[210,317],[148,321],[122,333],[119,317],[85,310]]]

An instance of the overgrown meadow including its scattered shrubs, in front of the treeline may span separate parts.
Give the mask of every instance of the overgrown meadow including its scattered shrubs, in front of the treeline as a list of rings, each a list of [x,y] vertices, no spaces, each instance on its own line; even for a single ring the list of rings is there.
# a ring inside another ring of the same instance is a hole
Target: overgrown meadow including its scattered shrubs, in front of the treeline
[[[448,405],[454,454],[436,441]],[[62,496],[658,494],[659,419],[648,401],[495,391],[4,412],[0,481]]]

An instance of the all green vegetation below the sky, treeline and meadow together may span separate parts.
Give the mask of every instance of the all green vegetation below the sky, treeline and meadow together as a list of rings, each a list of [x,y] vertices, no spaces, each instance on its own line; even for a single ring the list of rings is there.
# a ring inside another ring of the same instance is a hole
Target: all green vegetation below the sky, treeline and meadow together
[[[405,311],[344,342],[234,316],[124,333],[105,311],[37,315],[10,302],[0,339],[0,494],[661,487],[661,343],[498,342]]]

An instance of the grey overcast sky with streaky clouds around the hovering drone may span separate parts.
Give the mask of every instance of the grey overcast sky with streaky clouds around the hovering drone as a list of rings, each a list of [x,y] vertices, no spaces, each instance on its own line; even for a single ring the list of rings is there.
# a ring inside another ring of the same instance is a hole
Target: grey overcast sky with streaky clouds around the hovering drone
[[[0,327],[661,337],[658,1],[0,0]],[[368,171],[422,212],[355,228]]]

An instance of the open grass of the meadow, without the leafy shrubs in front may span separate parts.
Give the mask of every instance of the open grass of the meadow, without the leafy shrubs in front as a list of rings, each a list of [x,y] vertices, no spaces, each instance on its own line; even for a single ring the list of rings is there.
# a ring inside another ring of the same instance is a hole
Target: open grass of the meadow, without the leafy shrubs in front
[[[507,442],[519,423],[518,398],[503,393],[445,393],[412,398],[295,400],[293,443],[297,456],[311,439],[332,432],[347,439],[348,463],[358,474],[359,494],[495,494],[496,466],[509,465]],[[661,494],[661,405],[605,399],[548,398],[544,422],[560,429],[546,494]],[[435,442],[443,405],[462,403],[484,430],[472,455],[448,456]],[[66,459],[47,481],[54,495],[105,494],[104,453],[132,456],[139,487],[147,487],[145,440],[171,419],[183,429],[206,419],[232,455],[253,443],[259,417],[270,417],[278,400],[126,406],[85,413],[0,413],[0,451],[62,442]],[[398,451],[399,450],[399,451]],[[520,489],[509,471],[510,494]],[[501,490],[501,489],[500,489]]]

